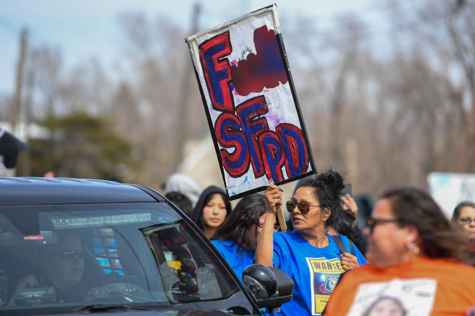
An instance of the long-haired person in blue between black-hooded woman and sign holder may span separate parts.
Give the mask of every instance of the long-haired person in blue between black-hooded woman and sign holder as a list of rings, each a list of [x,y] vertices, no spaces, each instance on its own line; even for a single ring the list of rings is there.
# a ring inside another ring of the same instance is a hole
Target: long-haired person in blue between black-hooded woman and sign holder
[[[264,195],[253,194],[243,197],[213,237],[213,244],[239,279],[242,271],[254,263],[257,240],[264,225],[265,213]],[[274,232],[277,231],[279,225],[274,219]]]

